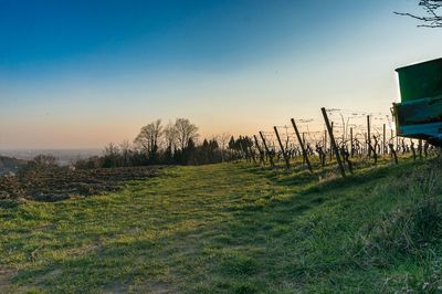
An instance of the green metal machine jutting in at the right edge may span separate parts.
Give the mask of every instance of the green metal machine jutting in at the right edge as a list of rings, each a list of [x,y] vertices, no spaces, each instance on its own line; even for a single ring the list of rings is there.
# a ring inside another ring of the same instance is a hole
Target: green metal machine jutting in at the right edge
[[[442,59],[397,69],[401,103],[393,103],[398,136],[442,146]]]

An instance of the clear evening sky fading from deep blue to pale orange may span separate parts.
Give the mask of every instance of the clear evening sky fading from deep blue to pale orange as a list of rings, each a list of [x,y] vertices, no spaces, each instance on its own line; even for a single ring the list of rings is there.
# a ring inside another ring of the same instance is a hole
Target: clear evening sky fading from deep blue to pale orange
[[[418,0],[0,0],[0,148],[101,148],[157,118],[255,134],[320,107],[388,113],[441,57]]]

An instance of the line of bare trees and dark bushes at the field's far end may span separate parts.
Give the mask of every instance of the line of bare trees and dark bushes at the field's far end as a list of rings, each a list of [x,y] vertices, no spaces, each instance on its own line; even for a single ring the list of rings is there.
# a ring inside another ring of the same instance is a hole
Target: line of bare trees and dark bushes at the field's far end
[[[157,119],[143,126],[133,143],[109,143],[103,156],[78,160],[77,168],[112,168],[147,165],[206,165],[232,161],[245,156],[248,137],[223,133],[199,140],[199,128],[187,118],[164,125]],[[252,144],[253,145],[253,144]]]

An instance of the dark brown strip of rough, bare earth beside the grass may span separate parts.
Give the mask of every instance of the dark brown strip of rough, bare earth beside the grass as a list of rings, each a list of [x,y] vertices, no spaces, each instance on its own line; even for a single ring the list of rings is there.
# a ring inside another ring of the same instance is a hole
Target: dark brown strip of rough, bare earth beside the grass
[[[70,169],[48,167],[0,177],[0,200],[57,201],[116,191],[122,183],[158,175],[160,167]]]

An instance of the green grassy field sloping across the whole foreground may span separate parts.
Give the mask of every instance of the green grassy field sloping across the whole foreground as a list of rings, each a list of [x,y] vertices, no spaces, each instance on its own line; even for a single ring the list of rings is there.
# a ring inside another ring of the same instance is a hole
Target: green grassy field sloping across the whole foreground
[[[173,167],[116,193],[0,208],[0,292],[442,292],[438,170]]]

